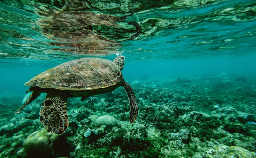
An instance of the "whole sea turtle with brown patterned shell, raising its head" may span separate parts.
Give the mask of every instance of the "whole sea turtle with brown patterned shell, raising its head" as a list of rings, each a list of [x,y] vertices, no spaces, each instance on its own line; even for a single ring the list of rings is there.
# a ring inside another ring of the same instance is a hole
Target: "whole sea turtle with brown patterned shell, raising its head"
[[[138,104],[131,86],[124,81],[121,70],[124,56],[114,61],[99,58],[75,59],[36,75],[24,85],[31,95],[15,112],[19,113],[41,93],[47,93],[42,102],[39,120],[48,132],[63,134],[68,128],[67,97],[82,97],[107,93],[123,86],[130,102],[130,123],[138,116]]]

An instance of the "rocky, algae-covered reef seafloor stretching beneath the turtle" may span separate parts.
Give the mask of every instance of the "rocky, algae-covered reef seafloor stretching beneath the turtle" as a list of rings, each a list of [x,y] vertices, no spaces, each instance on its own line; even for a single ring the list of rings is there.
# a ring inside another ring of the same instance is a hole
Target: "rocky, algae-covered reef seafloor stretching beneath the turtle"
[[[39,122],[44,94],[18,115],[21,101],[0,98],[0,157],[256,158],[253,78],[222,73],[129,83],[139,104],[135,123],[128,122],[121,87],[84,101],[69,98],[70,126],[61,136]],[[112,117],[99,123],[104,115]]]

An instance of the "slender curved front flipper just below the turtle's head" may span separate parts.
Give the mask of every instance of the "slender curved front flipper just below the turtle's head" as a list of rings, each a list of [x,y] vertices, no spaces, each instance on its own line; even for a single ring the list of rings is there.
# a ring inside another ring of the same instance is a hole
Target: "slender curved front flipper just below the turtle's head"
[[[129,121],[130,123],[133,123],[138,117],[139,106],[137,104],[133,89],[131,89],[131,86],[126,81],[123,82],[123,88],[125,88],[130,103]]]

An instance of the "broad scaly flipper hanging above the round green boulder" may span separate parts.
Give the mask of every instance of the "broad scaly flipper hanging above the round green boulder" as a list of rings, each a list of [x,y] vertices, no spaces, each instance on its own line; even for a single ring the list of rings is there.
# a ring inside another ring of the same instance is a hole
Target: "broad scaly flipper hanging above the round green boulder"
[[[68,129],[67,99],[65,94],[47,94],[40,109],[40,122],[47,132],[63,134]]]

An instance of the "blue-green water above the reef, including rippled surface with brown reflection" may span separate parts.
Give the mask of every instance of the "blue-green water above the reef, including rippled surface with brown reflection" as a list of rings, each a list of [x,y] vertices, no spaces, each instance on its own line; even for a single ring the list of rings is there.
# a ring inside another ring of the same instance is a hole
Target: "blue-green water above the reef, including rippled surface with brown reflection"
[[[164,84],[227,73],[250,81],[249,92],[241,93],[247,98],[256,87],[256,2],[0,2],[0,103],[15,107],[13,113],[28,89],[24,83],[35,75],[83,57],[113,61],[116,53],[126,58],[128,83],[172,88]]]

